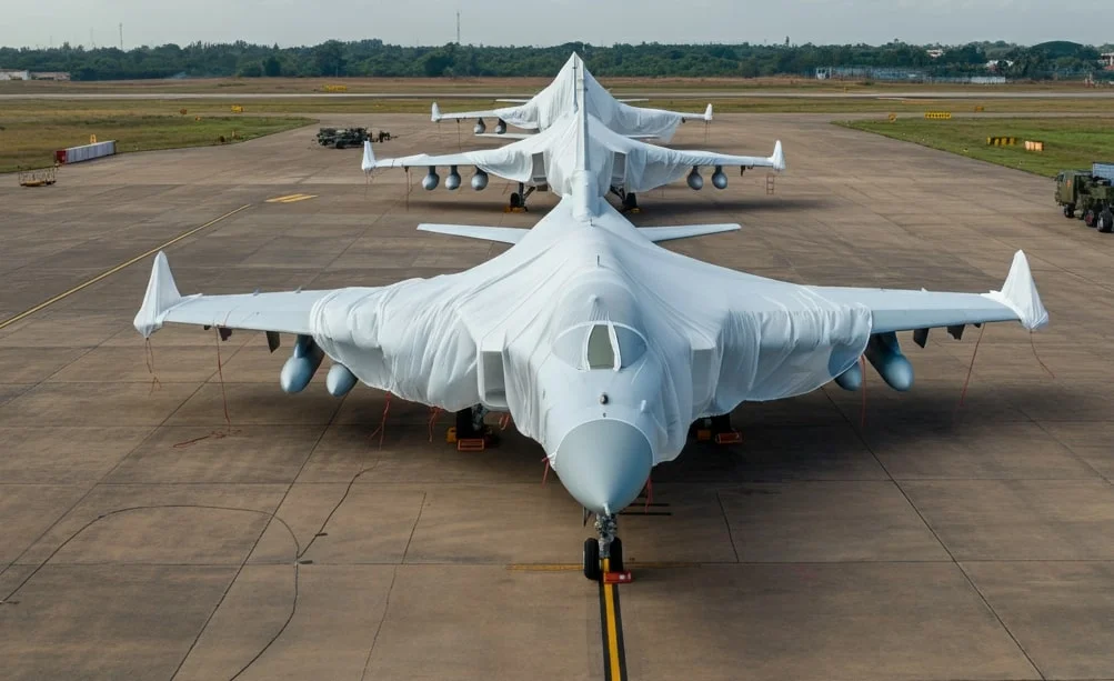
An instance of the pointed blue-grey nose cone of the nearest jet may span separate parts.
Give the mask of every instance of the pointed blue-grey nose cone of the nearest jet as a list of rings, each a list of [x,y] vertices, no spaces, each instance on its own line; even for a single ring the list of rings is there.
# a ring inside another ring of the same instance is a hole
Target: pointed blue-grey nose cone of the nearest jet
[[[565,488],[595,513],[618,513],[634,502],[653,466],[646,436],[615,419],[587,421],[570,430],[555,460]]]

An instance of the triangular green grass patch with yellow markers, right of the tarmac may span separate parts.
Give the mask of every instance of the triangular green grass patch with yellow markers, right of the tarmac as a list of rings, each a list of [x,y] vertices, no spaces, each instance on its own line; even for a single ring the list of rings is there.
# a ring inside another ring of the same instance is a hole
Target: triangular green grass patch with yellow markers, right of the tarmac
[[[1045,176],[1114,160],[1114,118],[898,118],[838,125]],[[1016,137],[1017,146],[989,146],[987,137]],[[1026,152],[1026,139],[1044,142],[1044,152]]]

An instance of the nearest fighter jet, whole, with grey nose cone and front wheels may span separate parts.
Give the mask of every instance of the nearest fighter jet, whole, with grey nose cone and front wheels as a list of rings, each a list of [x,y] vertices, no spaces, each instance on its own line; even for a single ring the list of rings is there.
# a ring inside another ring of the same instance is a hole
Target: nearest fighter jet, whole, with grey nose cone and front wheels
[[[602,557],[623,570],[616,514],[681,454],[695,420],[831,380],[857,389],[863,356],[908,389],[900,331],[924,344],[934,328],[1047,323],[1020,252],[1000,291],[977,294],[798,285],[662,249],[604,201],[595,159],[608,150],[583,107],[576,120],[571,168],[549,177],[563,198],[534,228],[497,239],[515,245],[488,262],[378,288],[182,295],[159,253],[135,327],[148,338],[166,323],[264,331],[272,351],[292,334],[283,390],[304,389],[328,356],[331,395],[363,382],[451,410],[458,437],[481,435],[483,410],[509,412],[595,515],[584,571],[597,580]]]

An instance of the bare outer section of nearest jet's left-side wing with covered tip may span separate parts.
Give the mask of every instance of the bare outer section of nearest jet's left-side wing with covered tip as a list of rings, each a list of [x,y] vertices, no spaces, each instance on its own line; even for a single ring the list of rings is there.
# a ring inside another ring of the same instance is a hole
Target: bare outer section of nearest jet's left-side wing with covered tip
[[[237,295],[182,295],[162,251],[155,256],[147,293],[135,318],[145,338],[167,322],[307,335],[310,312],[329,291]]]

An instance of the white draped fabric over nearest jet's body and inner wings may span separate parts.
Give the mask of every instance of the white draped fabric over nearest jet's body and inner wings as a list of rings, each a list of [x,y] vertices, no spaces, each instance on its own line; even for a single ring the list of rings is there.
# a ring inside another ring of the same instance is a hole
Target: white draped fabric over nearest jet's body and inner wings
[[[478,377],[497,371],[506,377],[516,427],[553,451],[557,442],[544,438],[560,428],[545,428],[544,420],[584,391],[563,381],[569,392],[556,395],[549,381],[545,395],[546,383],[535,381],[567,367],[559,363],[561,344],[579,347],[584,339],[574,337],[588,332],[586,323],[627,327],[642,339],[632,344],[648,346],[648,361],[663,369],[645,372],[662,378],[647,405],[659,426],[658,461],[680,454],[694,419],[743,400],[814,390],[866,348],[869,308],[666,251],[600,204],[594,225],[574,227],[571,202],[563,201],[514,249],[467,272],[329,293],[311,312],[313,338],[361,381],[448,410],[498,408],[480,393]],[[488,347],[498,369],[480,358]],[[567,374],[586,385],[607,381],[609,390],[623,376]]]

